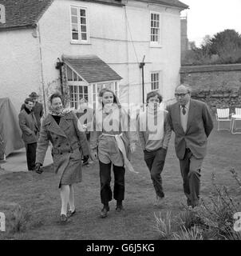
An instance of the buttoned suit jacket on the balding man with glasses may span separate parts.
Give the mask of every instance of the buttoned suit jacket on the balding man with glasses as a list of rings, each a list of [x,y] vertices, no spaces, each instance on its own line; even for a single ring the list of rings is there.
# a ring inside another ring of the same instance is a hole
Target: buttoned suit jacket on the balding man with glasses
[[[178,102],[168,106],[169,122],[175,136],[177,158],[183,159],[186,147],[196,158],[204,158],[207,153],[207,137],[213,128],[210,110],[204,102],[190,100],[187,130],[180,122],[180,105]]]

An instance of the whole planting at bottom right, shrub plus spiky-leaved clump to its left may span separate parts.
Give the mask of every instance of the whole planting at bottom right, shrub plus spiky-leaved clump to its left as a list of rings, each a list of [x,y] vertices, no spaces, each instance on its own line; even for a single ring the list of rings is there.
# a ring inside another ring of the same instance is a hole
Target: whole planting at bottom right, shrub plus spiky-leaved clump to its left
[[[241,180],[234,169],[232,177],[241,188]],[[201,200],[200,206],[192,208],[184,206],[172,223],[171,214],[166,218],[156,217],[156,230],[160,238],[174,240],[241,240],[241,231],[234,230],[234,214],[241,211],[239,202],[231,197],[226,186],[215,183],[215,174],[212,174],[213,191],[206,200]],[[172,230],[172,226],[179,226]]]

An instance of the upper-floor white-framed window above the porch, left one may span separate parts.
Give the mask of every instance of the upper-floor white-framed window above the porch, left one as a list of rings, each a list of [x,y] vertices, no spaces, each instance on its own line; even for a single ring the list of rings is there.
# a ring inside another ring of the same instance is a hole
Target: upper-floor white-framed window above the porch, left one
[[[86,8],[71,6],[71,39],[73,42],[88,42]]]

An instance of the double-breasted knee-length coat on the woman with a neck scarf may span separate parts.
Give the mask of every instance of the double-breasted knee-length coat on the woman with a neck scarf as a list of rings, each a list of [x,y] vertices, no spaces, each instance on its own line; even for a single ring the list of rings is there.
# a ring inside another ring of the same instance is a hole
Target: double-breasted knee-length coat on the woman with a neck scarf
[[[78,130],[76,114],[65,114],[59,125],[51,114],[47,115],[41,125],[36,162],[43,164],[49,141],[53,145],[53,166],[59,187],[81,182],[81,155],[90,155],[90,152],[85,133]]]

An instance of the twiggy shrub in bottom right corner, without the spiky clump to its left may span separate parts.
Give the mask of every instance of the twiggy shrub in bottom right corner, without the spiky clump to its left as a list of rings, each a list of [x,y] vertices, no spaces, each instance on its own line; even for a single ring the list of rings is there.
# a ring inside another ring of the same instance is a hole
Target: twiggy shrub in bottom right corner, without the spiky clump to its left
[[[239,182],[234,171],[233,175]],[[201,200],[200,206],[194,209],[187,207],[180,215],[184,227],[199,227],[205,239],[239,239],[240,234],[233,229],[233,216],[240,211],[239,202],[235,202],[226,186],[215,184],[215,174],[212,174],[212,187],[214,191],[206,201]]]

